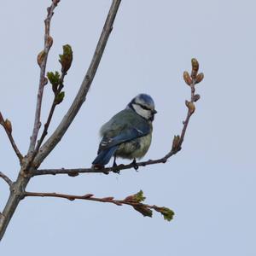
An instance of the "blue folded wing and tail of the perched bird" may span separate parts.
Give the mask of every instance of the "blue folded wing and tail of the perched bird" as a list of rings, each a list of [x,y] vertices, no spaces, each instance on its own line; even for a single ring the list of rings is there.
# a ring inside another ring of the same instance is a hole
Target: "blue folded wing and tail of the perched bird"
[[[92,162],[93,165],[105,166],[119,148],[119,144],[129,142],[137,137],[146,136],[150,132],[149,125],[141,125],[140,129],[130,128],[120,131],[116,137],[103,137],[100,143],[98,155]]]

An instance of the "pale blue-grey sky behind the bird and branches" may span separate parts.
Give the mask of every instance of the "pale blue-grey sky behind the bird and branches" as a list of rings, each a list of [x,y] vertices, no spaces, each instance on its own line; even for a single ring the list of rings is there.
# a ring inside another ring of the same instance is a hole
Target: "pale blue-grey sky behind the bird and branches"
[[[12,121],[22,153],[32,133],[36,56],[49,3],[0,1],[0,110]],[[62,44],[73,46],[74,60],[49,131],[84,78],[110,3],[62,0],[55,10],[48,71],[60,68]],[[143,218],[130,207],[28,198],[9,224],[1,255],[254,256],[255,9],[253,0],[123,0],[87,101],[42,167],[90,166],[102,123],[140,92],[153,96],[158,110],[145,160],[166,154],[186,114],[189,87],[182,74],[196,57],[205,80],[183,150],[166,165],[139,172],[36,177],[27,190],[122,199],[143,189],[148,203],[172,208],[175,218],[167,223],[160,214]],[[46,87],[43,121],[51,101]],[[15,179],[18,161],[3,129],[0,155],[0,171]],[[8,192],[0,180],[1,209]]]

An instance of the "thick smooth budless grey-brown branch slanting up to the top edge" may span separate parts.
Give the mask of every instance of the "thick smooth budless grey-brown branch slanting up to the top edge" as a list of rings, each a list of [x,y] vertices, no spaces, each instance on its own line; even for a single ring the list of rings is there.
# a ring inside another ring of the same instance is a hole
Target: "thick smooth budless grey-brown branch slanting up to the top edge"
[[[39,166],[44,158],[55,148],[57,143],[61,141],[61,138],[64,136],[65,132],[67,131],[69,125],[73,122],[73,119],[79,112],[79,109],[81,108],[82,104],[85,102],[87,93],[90,89],[90,84],[92,83],[92,80],[94,79],[94,76],[96,74],[96,70],[99,66],[99,63],[102,59],[102,54],[105,49],[105,46],[108,42],[108,37],[110,35],[110,32],[113,28],[113,21],[115,19],[115,16],[117,14],[117,11],[119,9],[119,4],[121,3],[121,0],[113,0],[112,5],[108,12],[108,17],[105,22],[105,25],[102,30],[101,37],[99,38],[98,44],[96,46],[95,53],[92,57],[92,60],[90,62],[90,67],[87,70],[87,73],[85,74],[84,80],[80,86],[79,92],[77,96],[75,97],[73,104],[68,109],[66,115],[61,120],[61,124],[58,125],[54,133],[51,137],[44,143],[43,147],[40,149],[38,155],[35,158],[35,165]]]

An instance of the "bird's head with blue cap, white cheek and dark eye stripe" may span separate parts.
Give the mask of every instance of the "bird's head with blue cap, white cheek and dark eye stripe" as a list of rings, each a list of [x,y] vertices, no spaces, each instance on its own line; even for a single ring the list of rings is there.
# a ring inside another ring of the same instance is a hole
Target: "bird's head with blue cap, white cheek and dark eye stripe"
[[[147,94],[139,94],[131,100],[127,108],[131,108],[137,114],[150,121],[154,120],[154,114],[157,111],[154,109],[154,101],[151,96]]]

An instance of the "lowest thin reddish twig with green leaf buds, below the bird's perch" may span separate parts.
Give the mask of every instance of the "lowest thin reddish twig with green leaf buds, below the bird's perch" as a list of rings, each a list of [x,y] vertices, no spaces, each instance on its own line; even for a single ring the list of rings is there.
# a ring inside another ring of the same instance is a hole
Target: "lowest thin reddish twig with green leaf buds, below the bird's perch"
[[[25,192],[25,196],[33,196],[33,197],[57,197],[57,198],[64,198],[69,201],[74,200],[87,200],[87,201],[99,201],[99,202],[107,202],[114,204],[116,206],[127,205],[133,207],[137,212],[143,214],[143,216],[152,217],[152,210],[156,212],[160,212],[164,218],[168,221],[172,220],[174,212],[167,207],[157,207],[155,205],[151,206],[148,204],[143,204],[146,198],[143,196],[143,191],[140,190],[135,195],[129,195],[124,200],[115,200],[113,196],[98,198],[92,194],[86,195],[67,195],[67,194],[59,194],[59,193],[38,193],[38,192]]]

